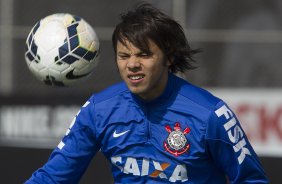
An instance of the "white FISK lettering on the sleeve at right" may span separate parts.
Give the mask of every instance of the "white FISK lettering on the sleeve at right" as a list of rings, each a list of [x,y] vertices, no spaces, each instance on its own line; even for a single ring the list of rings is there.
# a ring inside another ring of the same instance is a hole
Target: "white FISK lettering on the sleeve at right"
[[[245,160],[246,155],[251,155],[249,149],[245,147],[247,143],[244,138],[243,130],[238,125],[232,111],[228,109],[226,105],[223,105],[222,107],[217,109],[215,113],[218,117],[224,116],[227,120],[227,122],[224,123],[223,127],[228,134],[229,140],[233,143],[233,150],[236,153],[240,153],[240,155],[238,156],[238,162],[239,164],[242,164],[242,162]]]

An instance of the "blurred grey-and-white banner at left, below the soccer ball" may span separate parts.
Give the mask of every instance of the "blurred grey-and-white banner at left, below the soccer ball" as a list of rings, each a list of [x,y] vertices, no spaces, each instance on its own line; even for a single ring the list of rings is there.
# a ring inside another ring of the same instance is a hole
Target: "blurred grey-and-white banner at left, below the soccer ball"
[[[0,145],[54,148],[79,106],[2,106]]]

